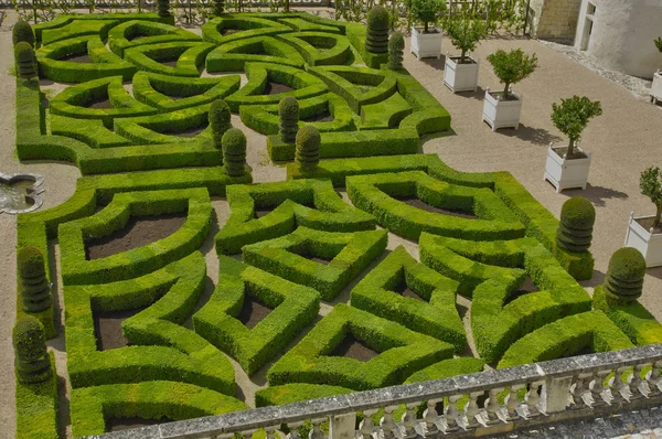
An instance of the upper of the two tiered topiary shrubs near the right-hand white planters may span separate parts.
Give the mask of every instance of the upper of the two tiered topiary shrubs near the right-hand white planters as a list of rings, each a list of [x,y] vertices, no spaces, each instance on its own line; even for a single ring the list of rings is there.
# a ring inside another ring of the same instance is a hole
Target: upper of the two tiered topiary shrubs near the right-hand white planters
[[[592,239],[596,210],[584,196],[573,196],[560,210],[556,245],[568,251],[586,251]]]

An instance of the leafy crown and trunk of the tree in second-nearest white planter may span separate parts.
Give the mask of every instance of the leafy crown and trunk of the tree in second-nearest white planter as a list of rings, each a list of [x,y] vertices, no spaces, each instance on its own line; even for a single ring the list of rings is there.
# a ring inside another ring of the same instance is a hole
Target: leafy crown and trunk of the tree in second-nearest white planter
[[[552,104],[552,121],[569,139],[566,157],[570,159],[574,157],[575,143],[580,139],[588,121],[601,114],[600,103],[591,101],[586,96],[575,95],[572,98],[560,99],[560,105]]]

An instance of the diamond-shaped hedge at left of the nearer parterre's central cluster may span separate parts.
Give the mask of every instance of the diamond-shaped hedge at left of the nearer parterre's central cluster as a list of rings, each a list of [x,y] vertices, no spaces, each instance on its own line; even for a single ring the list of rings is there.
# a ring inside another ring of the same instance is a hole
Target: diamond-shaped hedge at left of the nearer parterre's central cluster
[[[320,308],[319,293],[227,256],[221,256],[218,265],[218,285],[193,315],[193,325],[253,375],[312,323]],[[273,309],[253,329],[237,319],[247,296]]]

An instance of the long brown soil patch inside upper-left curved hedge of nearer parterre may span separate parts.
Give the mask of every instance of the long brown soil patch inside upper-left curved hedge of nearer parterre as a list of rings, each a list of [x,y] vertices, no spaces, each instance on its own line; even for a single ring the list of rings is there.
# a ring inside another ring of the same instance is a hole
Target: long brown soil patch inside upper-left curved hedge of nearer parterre
[[[100,259],[163,239],[177,232],[186,221],[186,213],[131,216],[125,228],[86,243],[87,259]]]

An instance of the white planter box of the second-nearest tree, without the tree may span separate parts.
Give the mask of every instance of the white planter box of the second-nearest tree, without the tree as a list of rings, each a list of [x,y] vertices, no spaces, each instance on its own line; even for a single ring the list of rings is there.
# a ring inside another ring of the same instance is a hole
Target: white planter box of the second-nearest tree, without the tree
[[[584,152],[578,146],[575,150],[584,152],[585,159],[567,160],[558,156],[556,150],[567,148],[566,146],[555,147],[552,143],[547,148],[547,162],[545,163],[545,180],[549,181],[560,192],[568,188],[586,189],[588,181],[588,170],[590,168],[590,153]]]

